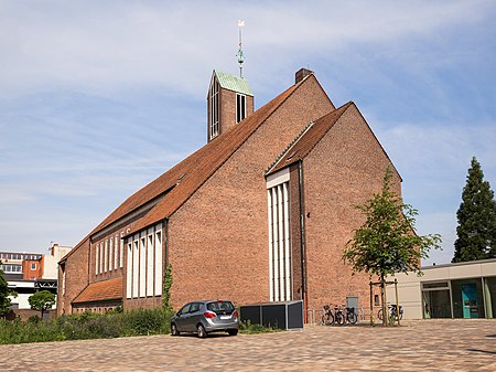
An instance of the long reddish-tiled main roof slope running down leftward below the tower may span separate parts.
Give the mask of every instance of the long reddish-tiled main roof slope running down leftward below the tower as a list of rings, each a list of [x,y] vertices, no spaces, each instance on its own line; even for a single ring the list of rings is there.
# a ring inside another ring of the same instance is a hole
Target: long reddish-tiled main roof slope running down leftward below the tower
[[[137,222],[132,232],[173,214],[229,157],[291,96],[300,82],[259,108],[234,128],[216,137],[200,150],[129,196],[90,235],[127,216],[153,200],[158,203]],[[74,251],[74,249],[73,249]]]

